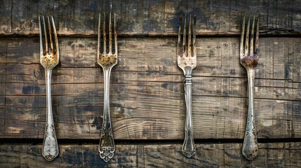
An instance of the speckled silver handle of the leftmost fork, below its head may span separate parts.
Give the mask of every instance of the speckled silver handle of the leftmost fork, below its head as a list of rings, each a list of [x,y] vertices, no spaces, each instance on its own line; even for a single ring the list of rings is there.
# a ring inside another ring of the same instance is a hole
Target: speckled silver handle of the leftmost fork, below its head
[[[51,73],[52,73],[52,69],[45,69],[46,128],[45,128],[44,142],[42,148],[42,155],[48,161],[51,161],[58,156],[58,141],[55,135],[55,128],[53,124],[53,113],[52,113],[52,106],[51,106]]]

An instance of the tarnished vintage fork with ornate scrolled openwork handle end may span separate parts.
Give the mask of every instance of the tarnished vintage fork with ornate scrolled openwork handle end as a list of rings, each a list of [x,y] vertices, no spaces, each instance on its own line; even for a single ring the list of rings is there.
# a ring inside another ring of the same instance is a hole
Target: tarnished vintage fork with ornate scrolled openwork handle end
[[[103,14],[103,48],[100,50],[100,15],[98,20],[98,64],[102,66],[105,83],[105,101],[104,101],[104,115],[102,121],[102,131],[100,133],[99,152],[100,158],[109,161],[114,156],[115,144],[112,132],[111,117],[109,113],[109,76],[111,69],[117,64],[117,31],[116,31],[116,13],[114,13],[114,53],[112,52],[112,13],[109,13],[109,52],[107,52],[107,36],[105,13]]]

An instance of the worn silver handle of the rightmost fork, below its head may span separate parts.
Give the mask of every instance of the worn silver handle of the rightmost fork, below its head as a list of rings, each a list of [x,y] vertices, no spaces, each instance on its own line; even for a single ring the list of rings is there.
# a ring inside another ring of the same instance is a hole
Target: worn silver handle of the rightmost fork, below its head
[[[246,134],[243,140],[243,155],[248,160],[253,160],[258,154],[258,144],[255,129],[255,117],[254,117],[254,80],[255,80],[255,69],[253,67],[246,67],[248,72],[248,120],[246,124]]]

